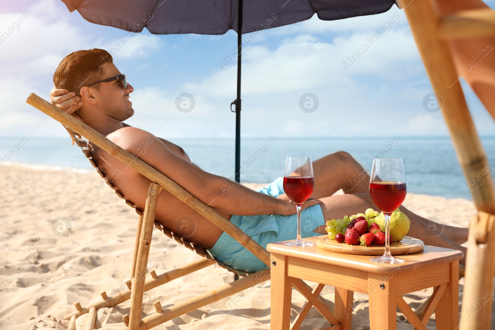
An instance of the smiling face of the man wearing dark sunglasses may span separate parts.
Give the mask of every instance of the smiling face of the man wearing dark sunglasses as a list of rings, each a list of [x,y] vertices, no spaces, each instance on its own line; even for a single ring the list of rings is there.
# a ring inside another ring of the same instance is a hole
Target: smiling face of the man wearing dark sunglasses
[[[121,74],[113,63],[106,63],[101,70],[103,71],[101,80]],[[122,81],[115,80],[98,85],[99,91],[94,90],[94,92],[100,105],[99,108],[104,114],[119,121],[124,121],[134,114],[132,102],[129,100],[129,94],[134,91],[131,84],[128,83],[127,88],[123,88]]]

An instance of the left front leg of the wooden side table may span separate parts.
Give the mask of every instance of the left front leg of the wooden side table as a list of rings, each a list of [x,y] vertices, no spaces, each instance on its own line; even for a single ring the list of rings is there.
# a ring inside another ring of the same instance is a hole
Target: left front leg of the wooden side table
[[[270,263],[272,265],[270,330],[290,330],[292,278],[287,276],[285,256],[272,253]]]

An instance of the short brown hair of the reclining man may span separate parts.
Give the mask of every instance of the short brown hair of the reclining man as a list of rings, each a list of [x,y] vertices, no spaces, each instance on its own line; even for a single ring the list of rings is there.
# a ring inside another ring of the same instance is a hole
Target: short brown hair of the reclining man
[[[113,61],[108,51],[99,48],[77,50],[65,56],[53,74],[55,88],[81,95],[81,87],[102,78],[102,68]],[[99,84],[93,85],[99,90]]]

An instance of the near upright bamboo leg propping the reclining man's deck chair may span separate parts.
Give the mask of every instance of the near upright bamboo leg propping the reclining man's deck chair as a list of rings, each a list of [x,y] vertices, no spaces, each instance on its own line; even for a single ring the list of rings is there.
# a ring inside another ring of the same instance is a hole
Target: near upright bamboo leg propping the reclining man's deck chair
[[[136,270],[134,272],[133,284],[131,287],[129,330],[138,330],[141,323],[149,248],[151,247],[151,235],[153,233],[156,204],[161,190],[162,188],[155,183],[149,185],[148,198],[146,199],[145,213],[143,216],[143,226],[139,240],[138,255],[136,258]]]

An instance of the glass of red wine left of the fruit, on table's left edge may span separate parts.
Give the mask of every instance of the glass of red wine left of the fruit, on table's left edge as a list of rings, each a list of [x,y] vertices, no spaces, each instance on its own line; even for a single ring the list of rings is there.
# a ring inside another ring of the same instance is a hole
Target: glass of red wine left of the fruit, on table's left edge
[[[301,239],[301,206],[313,193],[313,165],[310,157],[287,157],[284,173],[284,191],[296,204],[296,240],[286,242],[290,246],[312,246],[314,243]]]

